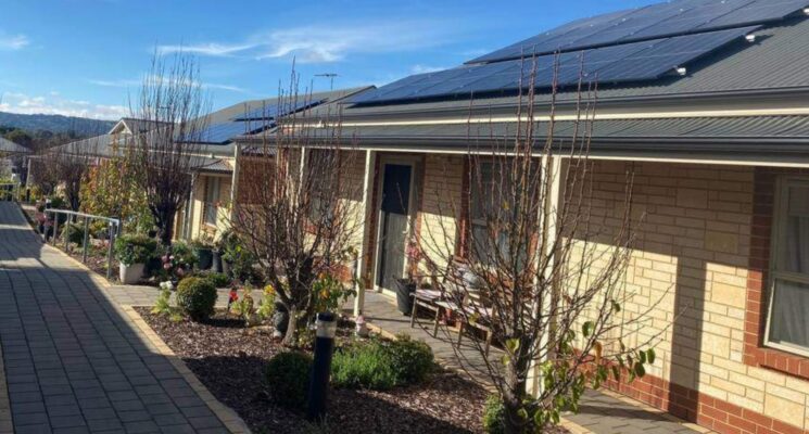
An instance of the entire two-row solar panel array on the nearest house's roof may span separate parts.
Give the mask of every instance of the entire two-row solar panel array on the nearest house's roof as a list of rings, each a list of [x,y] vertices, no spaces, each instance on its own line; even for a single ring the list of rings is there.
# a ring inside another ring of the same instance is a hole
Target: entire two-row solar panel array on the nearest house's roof
[[[458,67],[413,75],[361,93],[354,103],[470,97],[594,82],[658,79],[809,0],[677,0],[562,25]]]

